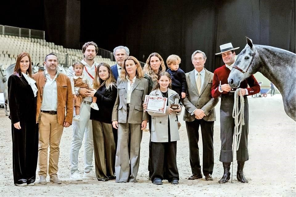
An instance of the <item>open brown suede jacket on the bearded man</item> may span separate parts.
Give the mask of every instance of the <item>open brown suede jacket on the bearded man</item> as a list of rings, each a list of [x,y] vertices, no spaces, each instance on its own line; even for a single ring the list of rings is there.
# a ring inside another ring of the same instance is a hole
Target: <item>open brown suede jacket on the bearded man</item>
[[[36,122],[38,123],[41,115],[41,105],[42,105],[42,95],[43,87],[47,81],[45,77],[45,72],[39,72],[33,74],[33,77],[36,81],[38,92],[37,92],[37,110],[36,110]],[[72,124],[73,119],[73,98],[72,98],[72,87],[70,79],[67,75],[58,73],[58,76],[55,78],[58,98],[57,101],[57,116],[58,122],[60,125],[63,125],[64,122]]]

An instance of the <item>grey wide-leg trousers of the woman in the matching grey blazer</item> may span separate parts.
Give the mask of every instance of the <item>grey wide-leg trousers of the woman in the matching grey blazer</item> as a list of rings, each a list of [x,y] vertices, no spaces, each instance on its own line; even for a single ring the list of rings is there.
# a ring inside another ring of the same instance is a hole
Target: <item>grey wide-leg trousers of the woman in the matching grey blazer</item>
[[[127,119],[128,117],[127,115]],[[136,177],[140,163],[141,140],[141,124],[118,123],[118,141],[115,159],[116,183],[137,183]]]

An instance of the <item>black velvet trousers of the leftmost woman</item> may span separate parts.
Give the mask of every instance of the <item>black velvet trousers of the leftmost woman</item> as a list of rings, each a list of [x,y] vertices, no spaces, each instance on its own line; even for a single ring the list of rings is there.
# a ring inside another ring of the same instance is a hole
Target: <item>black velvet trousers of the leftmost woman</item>
[[[38,159],[38,124],[33,121],[20,121],[21,129],[14,128],[12,133],[12,168],[14,184],[20,179],[36,179]]]

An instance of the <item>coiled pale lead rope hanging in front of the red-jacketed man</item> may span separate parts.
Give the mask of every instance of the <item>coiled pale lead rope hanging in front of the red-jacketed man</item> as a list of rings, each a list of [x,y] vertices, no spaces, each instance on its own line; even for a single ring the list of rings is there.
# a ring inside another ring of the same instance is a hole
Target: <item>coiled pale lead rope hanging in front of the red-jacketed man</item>
[[[234,105],[233,105],[233,111],[232,111],[232,118],[234,118],[234,133],[236,135],[236,151],[238,150],[238,147],[240,146],[241,142],[241,130],[243,125],[245,125],[245,99],[244,96],[239,96],[238,92],[241,94],[241,88],[238,88],[234,92]],[[241,106],[239,107],[239,102]]]

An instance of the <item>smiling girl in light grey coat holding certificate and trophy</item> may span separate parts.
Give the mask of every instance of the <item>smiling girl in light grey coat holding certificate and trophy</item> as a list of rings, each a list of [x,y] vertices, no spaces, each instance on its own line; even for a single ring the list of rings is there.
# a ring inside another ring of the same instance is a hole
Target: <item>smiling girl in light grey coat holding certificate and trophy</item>
[[[167,72],[158,75],[157,83],[150,93],[151,96],[168,98],[166,113],[151,112],[151,143],[152,143],[152,182],[162,184],[167,179],[171,184],[179,184],[176,153],[179,131],[177,116],[181,113],[181,106],[173,110],[171,105],[175,102],[178,93],[171,89],[171,77]],[[179,102],[177,102],[178,104]],[[144,104],[144,109],[147,104]]]

